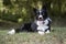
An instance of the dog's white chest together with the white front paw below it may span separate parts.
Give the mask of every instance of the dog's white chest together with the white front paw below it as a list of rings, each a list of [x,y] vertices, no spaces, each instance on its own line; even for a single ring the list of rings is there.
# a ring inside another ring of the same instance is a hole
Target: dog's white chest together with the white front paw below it
[[[45,30],[48,29],[47,24],[48,24],[47,20],[45,20],[45,21],[37,21],[38,34],[44,34]]]

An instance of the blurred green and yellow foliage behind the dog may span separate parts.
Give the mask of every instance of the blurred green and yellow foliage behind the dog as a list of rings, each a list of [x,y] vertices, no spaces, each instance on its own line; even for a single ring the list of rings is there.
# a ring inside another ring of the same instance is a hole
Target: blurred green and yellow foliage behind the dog
[[[66,0],[0,0],[0,19],[16,23],[32,22],[37,1],[46,4],[54,23],[66,22]]]

